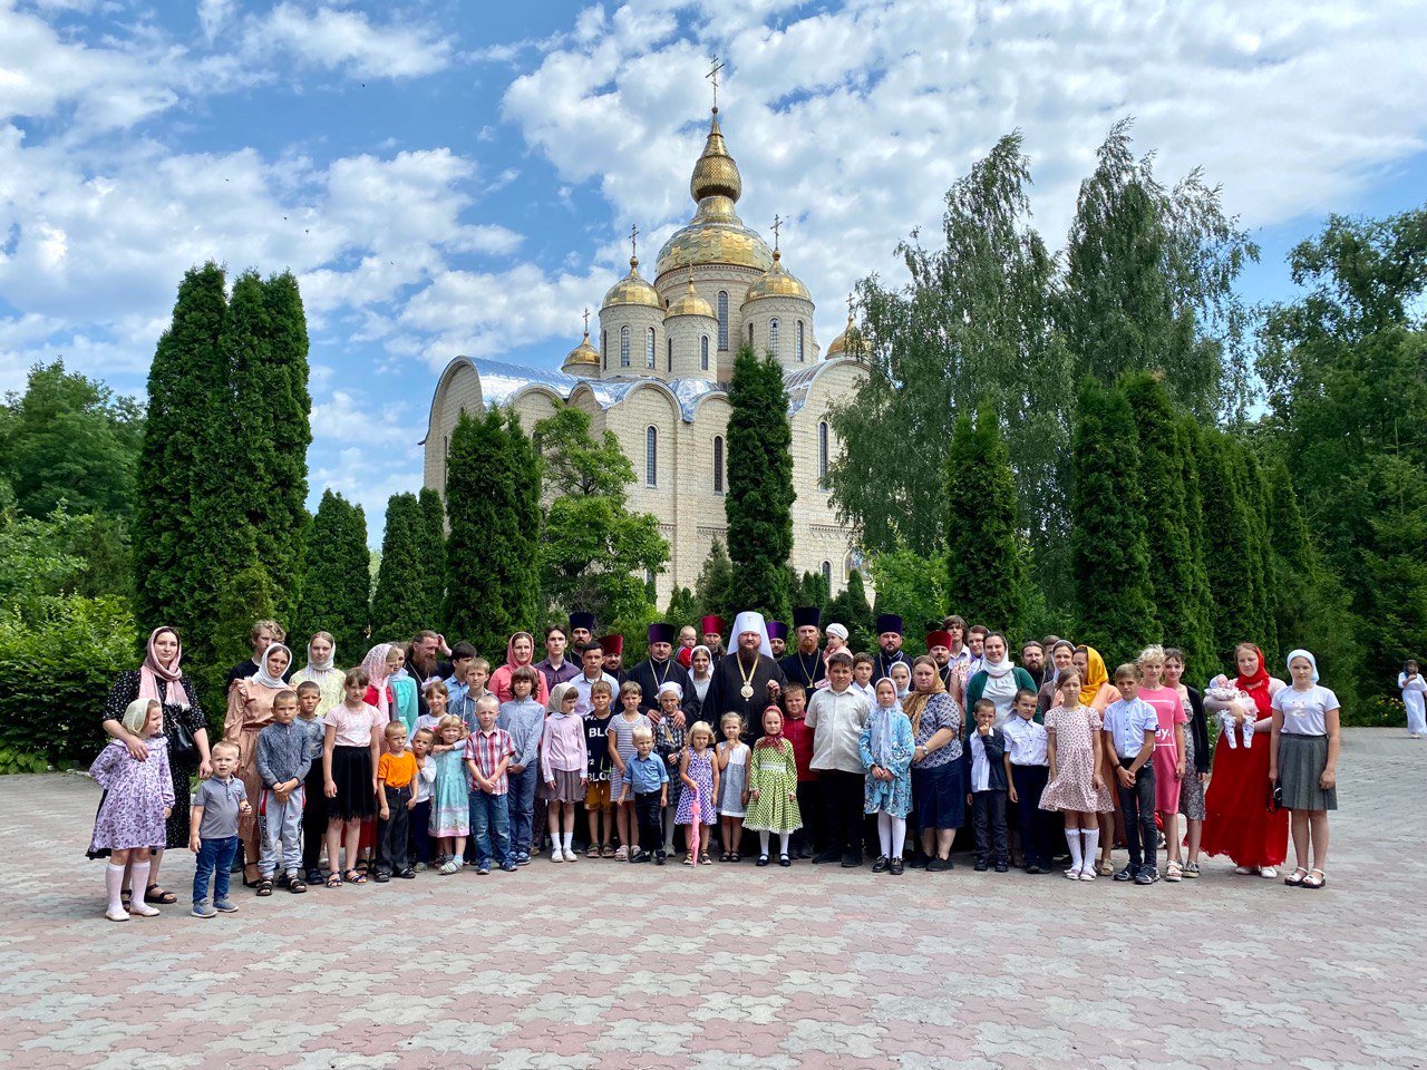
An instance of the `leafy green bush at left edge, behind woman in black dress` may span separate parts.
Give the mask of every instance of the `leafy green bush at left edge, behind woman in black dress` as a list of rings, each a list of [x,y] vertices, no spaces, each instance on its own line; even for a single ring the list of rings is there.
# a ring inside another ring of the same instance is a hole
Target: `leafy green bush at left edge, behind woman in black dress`
[[[0,772],[91,760],[104,698],[137,648],[116,599],[39,596],[0,615]]]

